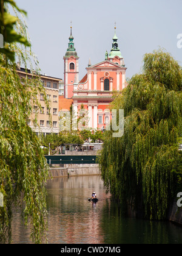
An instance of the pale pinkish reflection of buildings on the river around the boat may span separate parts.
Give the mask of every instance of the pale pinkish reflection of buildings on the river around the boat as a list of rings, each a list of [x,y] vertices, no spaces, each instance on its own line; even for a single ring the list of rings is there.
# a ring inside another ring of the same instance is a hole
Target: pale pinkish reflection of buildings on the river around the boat
[[[54,179],[48,182],[50,243],[104,243],[100,230],[101,209],[109,194],[105,193],[99,176]],[[89,202],[96,191],[99,201]]]

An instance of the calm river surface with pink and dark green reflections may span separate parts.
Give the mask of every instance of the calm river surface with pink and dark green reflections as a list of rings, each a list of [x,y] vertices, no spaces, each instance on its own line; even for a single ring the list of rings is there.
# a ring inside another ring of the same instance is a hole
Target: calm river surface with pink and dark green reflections
[[[98,202],[88,201],[95,191]],[[47,182],[50,244],[181,244],[182,227],[122,216],[99,176],[61,177]],[[31,243],[29,229],[13,215],[12,243]]]

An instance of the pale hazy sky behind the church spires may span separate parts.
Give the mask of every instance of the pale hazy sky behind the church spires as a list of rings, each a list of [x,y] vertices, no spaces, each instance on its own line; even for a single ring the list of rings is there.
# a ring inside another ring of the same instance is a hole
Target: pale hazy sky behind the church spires
[[[15,0],[27,11],[28,31],[33,52],[42,74],[63,79],[70,21],[79,56],[79,79],[92,65],[105,59],[116,35],[127,67],[126,77],[140,73],[143,55],[159,47],[182,66],[182,0]]]

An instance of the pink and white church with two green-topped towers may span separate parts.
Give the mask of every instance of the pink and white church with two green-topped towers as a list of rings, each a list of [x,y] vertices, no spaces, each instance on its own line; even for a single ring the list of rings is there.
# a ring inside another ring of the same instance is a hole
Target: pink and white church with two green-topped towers
[[[70,35],[72,41],[72,30]],[[74,45],[69,44],[64,56],[64,96],[73,99],[73,111],[78,113],[81,105],[88,113],[90,129],[106,129],[110,122],[109,103],[113,100],[114,91],[122,91],[126,87],[126,67],[118,48],[118,38],[113,37],[112,49],[105,60],[86,68],[87,74],[78,81],[78,56]],[[68,53],[69,51],[69,53]]]

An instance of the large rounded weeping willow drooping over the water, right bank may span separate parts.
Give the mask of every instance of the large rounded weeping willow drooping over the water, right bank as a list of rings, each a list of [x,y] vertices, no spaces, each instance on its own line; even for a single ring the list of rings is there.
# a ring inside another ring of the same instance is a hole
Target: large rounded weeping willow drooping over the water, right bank
[[[124,135],[106,132],[101,176],[121,204],[134,205],[145,218],[166,218],[182,191],[181,85],[181,67],[160,49],[144,55],[142,74],[110,106],[124,109]]]

